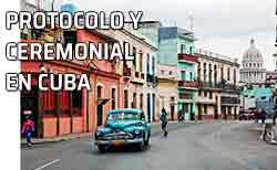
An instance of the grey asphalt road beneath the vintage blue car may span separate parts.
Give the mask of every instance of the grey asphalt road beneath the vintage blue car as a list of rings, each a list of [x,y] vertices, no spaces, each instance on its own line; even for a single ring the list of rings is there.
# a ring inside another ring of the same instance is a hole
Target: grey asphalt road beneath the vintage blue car
[[[145,151],[99,153],[90,138],[22,148],[22,170],[277,170],[277,146],[250,131],[252,124],[170,125]]]

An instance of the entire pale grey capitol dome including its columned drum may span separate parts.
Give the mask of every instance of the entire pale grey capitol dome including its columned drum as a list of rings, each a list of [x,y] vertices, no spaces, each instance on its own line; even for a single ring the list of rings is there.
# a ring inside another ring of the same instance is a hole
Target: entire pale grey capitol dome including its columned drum
[[[240,82],[245,84],[264,84],[266,68],[259,50],[255,46],[255,40],[250,40],[250,47],[243,55],[243,67],[239,71]]]

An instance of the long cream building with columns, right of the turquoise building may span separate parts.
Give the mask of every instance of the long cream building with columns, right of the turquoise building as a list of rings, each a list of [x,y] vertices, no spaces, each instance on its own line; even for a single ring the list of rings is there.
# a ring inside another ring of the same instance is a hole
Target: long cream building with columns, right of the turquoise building
[[[236,118],[239,107],[237,60],[197,50],[197,119]]]

